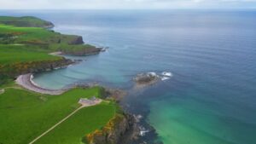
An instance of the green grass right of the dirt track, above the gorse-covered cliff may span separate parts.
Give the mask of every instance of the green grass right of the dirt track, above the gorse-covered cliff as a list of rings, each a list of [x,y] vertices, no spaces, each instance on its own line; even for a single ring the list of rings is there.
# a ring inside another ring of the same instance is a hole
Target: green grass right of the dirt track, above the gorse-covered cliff
[[[83,108],[35,143],[80,144],[85,135],[101,129],[110,118],[113,118],[114,109],[115,107],[108,103]]]

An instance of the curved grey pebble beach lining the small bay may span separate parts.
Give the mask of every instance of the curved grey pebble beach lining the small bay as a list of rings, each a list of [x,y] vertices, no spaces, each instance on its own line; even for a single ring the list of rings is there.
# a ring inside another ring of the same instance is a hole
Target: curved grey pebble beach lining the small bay
[[[40,94],[46,95],[61,95],[67,89],[44,89],[39,87],[38,85],[32,82],[32,73],[20,75],[16,80],[16,84],[19,84],[25,89],[32,90],[34,92],[38,92]]]

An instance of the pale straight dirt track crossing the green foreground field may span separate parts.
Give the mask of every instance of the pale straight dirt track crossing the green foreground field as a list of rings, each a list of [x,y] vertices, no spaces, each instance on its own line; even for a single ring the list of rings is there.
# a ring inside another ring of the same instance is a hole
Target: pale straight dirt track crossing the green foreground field
[[[75,111],[73,111],[72,113],[70,113],[66,118],[63,118],[59,123],[55,124],[54,126],[52,126],[51,128],[49,128],[49,130],[46,130],[42,135],[39,135],[37,138],[35,138],[33,141],[31,141],[29,144],[34,143],[35,141],[38,141],[38,139],[40,139],[41,137],[43,137],[44,135],[46,135],[47,133],[49,133],[50,130],[55,129],[56,126],[60,125],[61,123],[63,123],[65,120],[67,120],[67,118],[70,118],[71,116],[73,116],[74,113],[78,112],[80,109],[84,108],[84,107],[90,107],[90,106],[95,106],[99,103],[101,103],[102,100],[96,101],[95,103],[89,105],[89,104],[84,104],[81,107],[79,107],[78,109],[76,109]]]

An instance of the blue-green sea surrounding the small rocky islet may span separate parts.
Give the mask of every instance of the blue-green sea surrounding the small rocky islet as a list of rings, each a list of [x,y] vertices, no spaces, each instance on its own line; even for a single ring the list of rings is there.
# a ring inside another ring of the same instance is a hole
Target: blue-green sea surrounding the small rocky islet
[[[165,144],[256,143],[255,11],[12,11],[55,23],[108,46],[79,65],[36,75],[59,89],[98,82],[130,91],[122,104],[142,114]],[[1,14],[5,14],[1,13]],[[148,89],[133,89],[139,72],[172,72]],[[150,135],[143,137],[151,143]]]

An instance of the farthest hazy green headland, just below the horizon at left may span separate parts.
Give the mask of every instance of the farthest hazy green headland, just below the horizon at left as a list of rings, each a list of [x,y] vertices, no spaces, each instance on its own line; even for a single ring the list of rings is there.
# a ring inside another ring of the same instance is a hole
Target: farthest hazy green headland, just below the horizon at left
[[[19,26],[19,27],[44,27],[52,28],[54,24],[41,20],[33,16],[22,16],[22,17],[13,17],[13,16],[0,16],[0,24]]]

